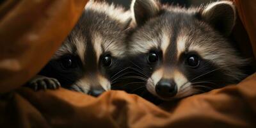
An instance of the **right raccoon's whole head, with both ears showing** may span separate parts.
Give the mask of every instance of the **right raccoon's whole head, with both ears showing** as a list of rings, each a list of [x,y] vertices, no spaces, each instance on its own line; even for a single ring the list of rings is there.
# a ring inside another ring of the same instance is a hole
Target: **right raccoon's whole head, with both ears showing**
[[[163,100],[187,97],[235,83],[244,61],[227,42],[236,11],[228,1],[205,8],[134,2],[138,29],[129,51],[147,74],[147,90]]]

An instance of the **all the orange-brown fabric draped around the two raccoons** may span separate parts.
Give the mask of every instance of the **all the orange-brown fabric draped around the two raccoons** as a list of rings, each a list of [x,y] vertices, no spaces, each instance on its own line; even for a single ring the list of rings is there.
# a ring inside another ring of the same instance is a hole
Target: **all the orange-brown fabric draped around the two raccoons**
[[[19,88],[49,60],[85,3],[10,0],[1,4],[1,127],[256,127],[256,74],[236,86],[161,106],[122,91],[95,98],[62,88],[45,92]],[[240,38],[234,40],[244,52],[253,48],[255,53],[256,17],[250,10],[256,2],[236,3],[245,29],[237,26],[234,35]],[[244,54],[253,56],[248,53]]]

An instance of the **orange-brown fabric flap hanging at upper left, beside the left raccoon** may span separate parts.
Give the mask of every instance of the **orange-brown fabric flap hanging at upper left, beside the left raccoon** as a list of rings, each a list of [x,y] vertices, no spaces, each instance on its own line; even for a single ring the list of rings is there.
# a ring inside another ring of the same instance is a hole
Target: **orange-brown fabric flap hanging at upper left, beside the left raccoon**
[[[86,1],[4,1],[0,6],[0,93],[18,88],[51,58]]]

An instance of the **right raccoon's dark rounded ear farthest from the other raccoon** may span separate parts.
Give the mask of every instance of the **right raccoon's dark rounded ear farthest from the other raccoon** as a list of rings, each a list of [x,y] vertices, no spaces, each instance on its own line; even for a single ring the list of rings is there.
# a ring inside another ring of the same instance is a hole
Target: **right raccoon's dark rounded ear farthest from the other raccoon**
[[[236,8],[230,1],[211,3],[202,11],[202,19],[229,36],[236,24]]]

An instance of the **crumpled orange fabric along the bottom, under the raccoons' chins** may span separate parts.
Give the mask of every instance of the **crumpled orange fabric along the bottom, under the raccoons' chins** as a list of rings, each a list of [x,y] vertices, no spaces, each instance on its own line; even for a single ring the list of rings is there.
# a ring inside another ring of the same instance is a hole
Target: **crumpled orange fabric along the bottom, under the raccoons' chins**
[[[165,111],[120,91],[93,98],[20,88],[1,97],[0,119],[12,127],[255,127],[255,83],[253,74],[237,86],[163,104]]]

